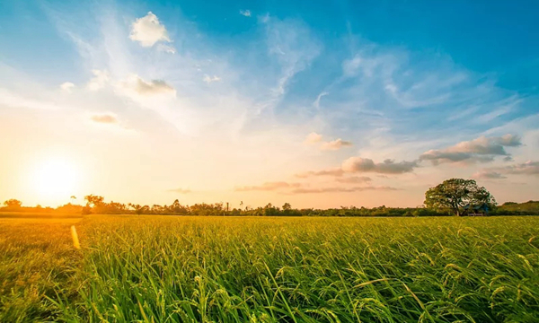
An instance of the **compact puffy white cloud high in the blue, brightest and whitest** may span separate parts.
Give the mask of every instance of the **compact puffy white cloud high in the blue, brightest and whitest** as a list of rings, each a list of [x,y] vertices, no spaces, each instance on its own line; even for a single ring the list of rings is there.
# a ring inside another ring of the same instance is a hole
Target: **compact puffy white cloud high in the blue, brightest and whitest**
[[[156,42],[163,40],[171,42],[166,28],[159,22],[157,16],[149,12],[146,16],[138,18],[131,24],[129,39],[138,41],[142,47],[152,47]]]

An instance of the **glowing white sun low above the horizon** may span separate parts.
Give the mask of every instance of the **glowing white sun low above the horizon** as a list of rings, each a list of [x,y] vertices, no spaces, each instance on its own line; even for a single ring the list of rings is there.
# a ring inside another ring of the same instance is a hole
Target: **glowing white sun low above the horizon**
[[[40,196],[62,199],[73,194],[78,180],[75,165],[60,158],[52,158],[37,165],[31,178]]]

